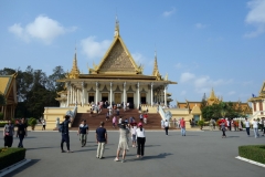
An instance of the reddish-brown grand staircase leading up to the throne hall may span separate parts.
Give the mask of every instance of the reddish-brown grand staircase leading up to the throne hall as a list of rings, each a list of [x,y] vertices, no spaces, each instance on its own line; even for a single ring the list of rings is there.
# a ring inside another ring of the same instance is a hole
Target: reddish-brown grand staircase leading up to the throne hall
[[[106,122],[106,114],[108,110],[103,108],[103,111],[99,114],[91,114],[89,113],[77,113],[74,119],[74,123],[71,127],[72,131],[77,131],[78,126],[82,122],[82,119],[86,119],[86,123],[89,126],[89,131],[96,129],[99,126],[100,122],[105,122],[105,128],[107,129],[115,129],[113,127],[113,116],[110,116],[109,121]],[[119,116],[125,119],[127,118],[129,121],[129,117],[134,116],[136,122],[140,122],[140,113],[138,113],[138,110],[127,110],[124,112],[120,110]],[[144,124],[145,129],[161,129],[161,116],[158,113],[148,113],[147,124]],[[117,126],[116,126],[117,129]]]

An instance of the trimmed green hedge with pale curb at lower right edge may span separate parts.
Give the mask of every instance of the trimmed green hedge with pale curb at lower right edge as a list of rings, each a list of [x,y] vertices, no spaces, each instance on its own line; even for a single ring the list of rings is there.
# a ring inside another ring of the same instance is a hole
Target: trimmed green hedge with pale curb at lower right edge
[[[241,157],[265,164],[265,145],[240,146],[239,154]]]

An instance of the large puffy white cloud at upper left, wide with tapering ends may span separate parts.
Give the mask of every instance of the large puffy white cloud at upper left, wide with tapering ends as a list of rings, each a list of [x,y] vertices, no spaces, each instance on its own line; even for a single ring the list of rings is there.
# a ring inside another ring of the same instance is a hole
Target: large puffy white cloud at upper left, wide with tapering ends
[[[56,37],[75,30],[75,27],[66,29],[56,20],[50,19],[45,15],[36,17],[33,22],[26,24],[24,28],[22,28],[20,23],[14,23],[9,27],[9,32],[15,34],[25,42],[30,42],[32,39],[38,39],[46,44],[50,44]]]

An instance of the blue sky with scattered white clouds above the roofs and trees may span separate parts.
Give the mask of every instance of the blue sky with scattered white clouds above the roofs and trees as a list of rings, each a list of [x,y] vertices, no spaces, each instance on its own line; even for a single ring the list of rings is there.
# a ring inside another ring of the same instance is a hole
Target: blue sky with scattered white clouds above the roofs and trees
[[[174,101],[201,101],[212,87],[224,101],[258,94],[265,0],[2,0],[0,69],[71,70],[76,45],[80,70],[87,73],[113,41],[116,14],[147,75],[157,50],[160,73],[178,82],[169,86]]]

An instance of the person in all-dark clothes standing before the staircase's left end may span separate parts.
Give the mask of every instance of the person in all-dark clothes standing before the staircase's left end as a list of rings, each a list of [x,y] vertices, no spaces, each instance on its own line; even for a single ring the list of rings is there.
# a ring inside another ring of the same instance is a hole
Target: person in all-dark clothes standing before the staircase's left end
[[[64,122],[61,125],[61,133],[62,133],[62,140],[61,140],[61,150],[62,153],[65,153],[63,146],[64,143],[66,143],[66,148],[67,148],[67,153],[73,153],[72,150],[70,150],[70,136],[68,136],[68,124],[72,123],[73,119],[70,118],[68,115],[64,116]]]

